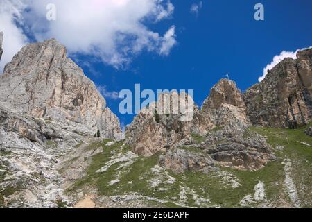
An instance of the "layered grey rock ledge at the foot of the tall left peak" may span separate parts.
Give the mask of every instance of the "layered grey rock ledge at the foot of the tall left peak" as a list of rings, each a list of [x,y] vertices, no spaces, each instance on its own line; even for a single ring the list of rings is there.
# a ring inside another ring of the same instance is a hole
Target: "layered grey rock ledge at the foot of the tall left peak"
[[[38,119],[26,114],[10,112],[0,104],[0,146],[10,151],[11,148],[27,150],[31,147],[47,148],[53,143],[64,149],[75,146],[87,135],[80,126],[65,125],[50,119]]]

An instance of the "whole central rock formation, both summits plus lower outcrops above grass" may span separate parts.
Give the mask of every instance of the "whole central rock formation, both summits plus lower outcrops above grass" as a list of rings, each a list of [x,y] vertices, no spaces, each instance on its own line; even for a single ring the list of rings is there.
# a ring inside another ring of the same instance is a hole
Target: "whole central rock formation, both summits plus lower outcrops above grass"
[[[157,105],[173,96],[164,94]],[[190,121],[182,121],[180,114],[158,114],[156,118],[153,109],[152,105],[149,112],[144,109],[135,117],[126,130],[126,142],[139,155],[167,151],[159,160],[163,167],[176,172],[198,171],[213,167],[211,162],[219,162],[225,167],[259,169],[274,159],[266,139],[257,133],[246,136],[250,123],[245,102],[231,80],[221,79],[211,89],[202,110],[194,106]],[[200,143],[196,137],[200,137]],[[207,155],[180,149],[186,146]]]

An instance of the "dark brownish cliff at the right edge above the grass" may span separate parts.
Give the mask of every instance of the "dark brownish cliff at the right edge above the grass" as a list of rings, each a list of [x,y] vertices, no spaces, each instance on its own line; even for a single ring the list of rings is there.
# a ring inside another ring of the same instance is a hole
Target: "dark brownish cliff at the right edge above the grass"
[[[286,58],[244,94],[254,125],[296,128],[312,117],[312,49]]]

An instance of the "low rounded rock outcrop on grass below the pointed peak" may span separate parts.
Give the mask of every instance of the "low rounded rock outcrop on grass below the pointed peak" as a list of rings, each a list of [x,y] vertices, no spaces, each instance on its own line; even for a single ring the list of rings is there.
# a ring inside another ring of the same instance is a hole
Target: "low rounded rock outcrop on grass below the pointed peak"
[[[275,160],[266,138],[248,128],[225,126],[207,135],[204,150],[223,167],[257,170]]]

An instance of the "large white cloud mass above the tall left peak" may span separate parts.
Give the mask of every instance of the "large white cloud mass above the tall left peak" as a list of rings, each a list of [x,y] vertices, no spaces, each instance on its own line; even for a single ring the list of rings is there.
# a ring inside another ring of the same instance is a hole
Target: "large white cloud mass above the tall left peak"
[[[8,6],[12,1],[24,7],[17,8],[13,13]],[[106,64],[115,67],[127,65],[144,50],[168,55],[175,45],[174,26],[169,27],[164,35],[148,28],[148,24],[155,24],[173,15],[174,6],[170,0],[12,1],[1,0],[1,9],[6,11],[5,14],[1,12],[1,16],[6,15],[6,19],[1,18],[0,29],[4,29],[2,24],[10,25],[12,31],[6,28],[3,32],[7,39],[17,39],[18,44],[10,49],[15,53],[26,40],[19,26],[15,22],[8,22],[13,19],[22,22],[24,29],[37,41],[55,37],[67,46],[69,53],[98,56]],[[48,3],[56,6],[55,21],[46,19]],[[168,33],[171,35],[168,36]],[[12,53],[4,56],[10,58]]]

